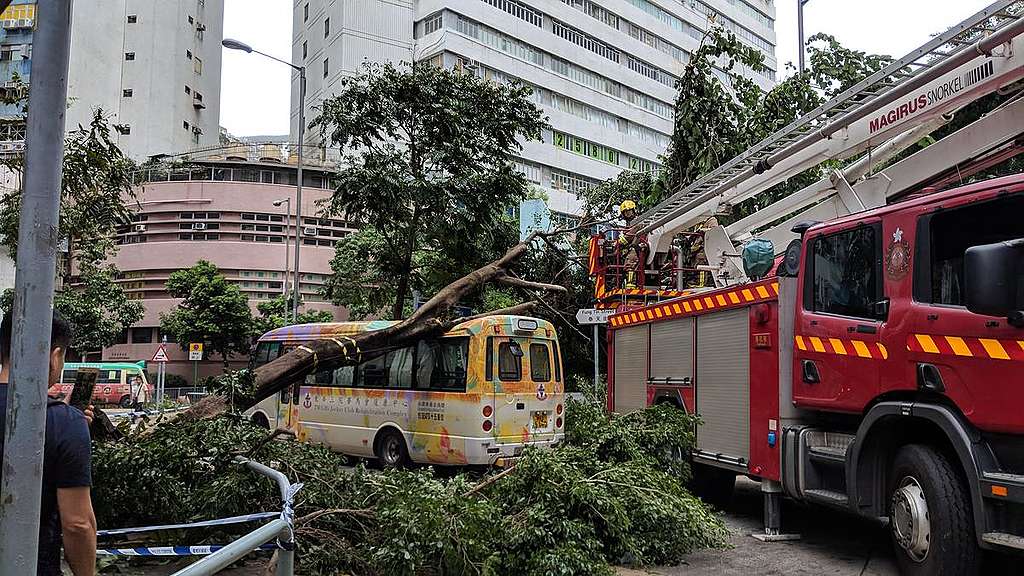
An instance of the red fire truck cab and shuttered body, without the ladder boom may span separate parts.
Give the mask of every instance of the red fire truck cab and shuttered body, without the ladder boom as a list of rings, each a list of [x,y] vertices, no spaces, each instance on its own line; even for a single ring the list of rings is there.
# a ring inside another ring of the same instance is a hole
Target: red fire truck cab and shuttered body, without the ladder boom
[[[609,409],[675,404],[718,482],[888,518],[905,573],[1024,549],[1024,175],[796,232],[775,276],[612,316]]]

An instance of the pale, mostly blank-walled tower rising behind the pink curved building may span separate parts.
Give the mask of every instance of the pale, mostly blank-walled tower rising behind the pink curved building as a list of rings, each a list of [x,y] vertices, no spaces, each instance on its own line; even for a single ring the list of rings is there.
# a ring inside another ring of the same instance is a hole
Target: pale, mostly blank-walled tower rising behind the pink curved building
[[[218,143],[223,0],[76,0],[68,129],[99,107],[135,160]]]

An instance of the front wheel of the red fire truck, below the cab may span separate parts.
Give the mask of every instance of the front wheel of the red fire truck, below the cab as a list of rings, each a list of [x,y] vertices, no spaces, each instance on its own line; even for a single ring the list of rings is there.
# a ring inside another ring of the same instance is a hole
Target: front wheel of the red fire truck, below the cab
[[[967,485],[931,446],[896,453],[889,476],[889,527],[900,574],[976,575],[981,552]]]

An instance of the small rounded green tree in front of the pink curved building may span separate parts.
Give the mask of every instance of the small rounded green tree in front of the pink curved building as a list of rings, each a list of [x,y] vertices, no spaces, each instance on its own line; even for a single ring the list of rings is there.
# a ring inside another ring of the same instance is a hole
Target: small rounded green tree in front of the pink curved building
[[[167,279],[167,292],[181,302],[160,315],[160,330],[187,349],[189,342],[204,342],[208,354],[227,357],[249,354],[255,321],[249,300],[238,286],[206,260],[179,270]]]

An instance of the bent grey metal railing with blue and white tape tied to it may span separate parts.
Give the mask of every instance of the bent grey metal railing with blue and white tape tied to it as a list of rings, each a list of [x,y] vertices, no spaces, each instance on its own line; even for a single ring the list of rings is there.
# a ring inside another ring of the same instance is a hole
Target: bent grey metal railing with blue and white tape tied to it
[[[293,576],[295,572],[295,533],[293,527],[295,494],[302,488],[301,484],[292,484],[284,474],[242,456],[237,456],[234,462],[248,467],[262,476],[273,480],[281,490],[281,513],[260,512],[249,516],[177,524],[167,526],[146,526],[116,530],[101,530],[98,536],[117,536],[137,534],[141,532],[159,532],[162,530],[181,530],[208,526],[242,524],[273,518],[270,522],[241,536],[233,542],[222,546],[163,546],[153,548],[99,548],[100,556],[204,556],[200,561],[175,572],[172,576],[207,576],[216,574],[231,564],[242,560],[255,550],[273,549],[278,551],[276,576]],[[268,545],[270,542],[273,544]]]

